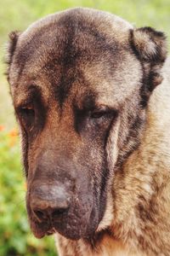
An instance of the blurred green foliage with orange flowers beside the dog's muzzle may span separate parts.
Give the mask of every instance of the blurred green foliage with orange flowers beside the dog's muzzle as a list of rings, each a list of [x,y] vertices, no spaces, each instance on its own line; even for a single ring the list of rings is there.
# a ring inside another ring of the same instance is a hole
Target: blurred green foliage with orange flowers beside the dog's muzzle
[[[0,255],[54,256],[54,239],[37,240],[29,228],[19,148],[17,131],[0,126]]]

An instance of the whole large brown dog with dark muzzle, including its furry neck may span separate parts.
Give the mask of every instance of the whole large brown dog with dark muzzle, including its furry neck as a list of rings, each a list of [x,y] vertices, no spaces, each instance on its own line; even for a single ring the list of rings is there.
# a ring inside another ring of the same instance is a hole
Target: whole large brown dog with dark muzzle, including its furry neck
[[[166,59],[163,32],[95,9],[9,34],[28,217],[59,255],[170,255]]]

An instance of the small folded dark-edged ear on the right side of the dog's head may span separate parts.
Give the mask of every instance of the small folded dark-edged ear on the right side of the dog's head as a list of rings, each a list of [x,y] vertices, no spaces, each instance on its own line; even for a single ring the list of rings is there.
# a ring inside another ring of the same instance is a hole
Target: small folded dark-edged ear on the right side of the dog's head
[[[148,90],[151,92],[161,84],[161,67],[167,57],[167,40],[163,32],[151,27],[141,27],[131,31],[133,52],[143,63]]]

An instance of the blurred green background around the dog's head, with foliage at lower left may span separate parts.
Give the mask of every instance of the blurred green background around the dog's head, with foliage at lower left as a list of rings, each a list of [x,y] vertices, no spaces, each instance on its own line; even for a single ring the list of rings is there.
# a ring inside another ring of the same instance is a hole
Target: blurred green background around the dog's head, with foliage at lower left
[[[25,30],[44,15],[77,6],[110,11],[134,26],[153,26],[170,38],[170,0],[0,0],[0,256],[56,255],[53,237],[35,239],[27,222],[19,137],[3,75],[8,32]]]

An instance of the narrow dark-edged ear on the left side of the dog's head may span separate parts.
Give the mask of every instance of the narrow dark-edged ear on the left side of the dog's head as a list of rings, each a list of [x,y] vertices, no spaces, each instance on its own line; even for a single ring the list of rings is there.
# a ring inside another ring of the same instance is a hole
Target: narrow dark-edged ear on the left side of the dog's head
[[[8,79],[9,68],[13,60],[14,51],[16,49],[16,44],[18,42],[19,37],[20,37],[20,32],[17,32],[17,31],[10,32],[8,35],[9,41],[7,45],[7,54],[5,58],[5,62],[7,64],[7,72],[6,72],[7,79]]]

